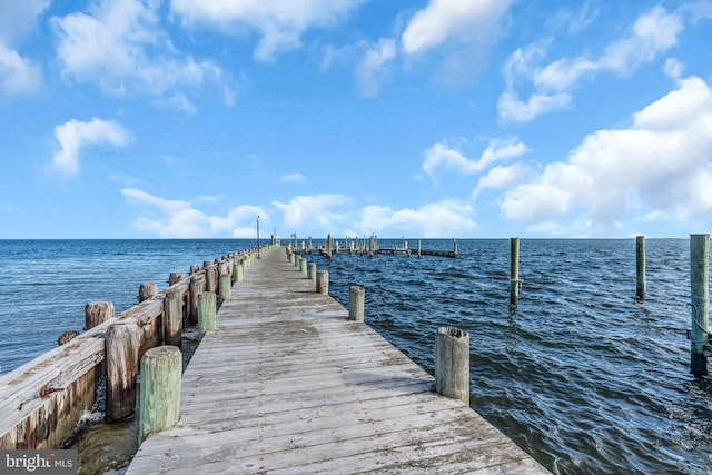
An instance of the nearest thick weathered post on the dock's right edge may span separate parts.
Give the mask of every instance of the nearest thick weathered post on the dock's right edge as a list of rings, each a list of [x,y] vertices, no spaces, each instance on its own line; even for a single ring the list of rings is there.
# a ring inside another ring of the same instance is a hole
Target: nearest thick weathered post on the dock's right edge
[[[435,390],[469,405],[469,334],[441,327],[435,339]]]

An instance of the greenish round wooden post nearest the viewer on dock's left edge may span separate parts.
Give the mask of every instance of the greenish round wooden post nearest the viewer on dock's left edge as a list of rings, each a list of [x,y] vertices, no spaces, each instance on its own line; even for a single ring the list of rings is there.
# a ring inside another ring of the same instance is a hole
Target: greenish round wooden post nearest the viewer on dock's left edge
[[[141,358],[139,444],[149,434],[176,425],[180,418],[182,354],[175,346],[157,346]]]

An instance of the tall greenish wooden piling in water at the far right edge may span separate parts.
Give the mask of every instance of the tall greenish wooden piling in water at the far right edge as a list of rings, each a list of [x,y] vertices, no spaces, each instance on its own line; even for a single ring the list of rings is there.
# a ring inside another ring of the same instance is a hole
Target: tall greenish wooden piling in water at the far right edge
[[[690,373],[695,377],[708,374],[708,344],[710,313],[709,290],[710,235],[690,235]]]

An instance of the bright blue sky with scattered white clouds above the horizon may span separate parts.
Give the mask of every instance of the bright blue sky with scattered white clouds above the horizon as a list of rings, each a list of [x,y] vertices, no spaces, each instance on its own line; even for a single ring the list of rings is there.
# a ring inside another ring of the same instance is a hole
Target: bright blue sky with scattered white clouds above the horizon
[[[0,238],[686,237],[712,1],[0,0]]]

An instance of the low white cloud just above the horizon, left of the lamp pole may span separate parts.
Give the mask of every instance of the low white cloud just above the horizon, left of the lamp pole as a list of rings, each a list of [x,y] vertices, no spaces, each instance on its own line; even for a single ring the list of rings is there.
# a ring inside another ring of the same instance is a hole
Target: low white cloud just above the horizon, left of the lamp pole
[[[123,188],[121,194],[131,205],[139,206],[144,216],[134,221],[136,230],[161,238],[209,238],[229,234],[234,238],[256,236],[256,217],[269,225],[269,215],[260,207],[241,205],[227,216],[209,216],[189,201],[165,199],[138,188]],[[199,197],[197,201],[205,201]]]

